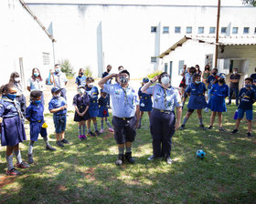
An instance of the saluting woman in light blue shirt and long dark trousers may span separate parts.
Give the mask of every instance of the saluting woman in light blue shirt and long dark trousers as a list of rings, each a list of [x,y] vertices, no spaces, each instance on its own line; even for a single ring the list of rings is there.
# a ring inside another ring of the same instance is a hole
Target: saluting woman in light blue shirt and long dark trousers
[[[150,87],[157,79],[159,84]],[[172,136],[176,129],[179,128],[182,113],[181,98],[178,91],[171,87],[170,79],[170,76],[163,72],[160,76],[155,76],[142,87],[142,92],[151,94],[154,97],[153,110],[150,115],[153,155],[148,160],[164,158],[167,164],[172,163],[170,158]]]

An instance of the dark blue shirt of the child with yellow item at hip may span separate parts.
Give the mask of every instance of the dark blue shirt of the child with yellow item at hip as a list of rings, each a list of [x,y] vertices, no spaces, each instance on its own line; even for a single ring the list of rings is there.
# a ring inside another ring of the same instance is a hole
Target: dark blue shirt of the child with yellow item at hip
[[[42,103],[35,105],[33,102],[26,109],[26,117],[30,118],[30,122],[38,122],[44,120],[44,106]]]

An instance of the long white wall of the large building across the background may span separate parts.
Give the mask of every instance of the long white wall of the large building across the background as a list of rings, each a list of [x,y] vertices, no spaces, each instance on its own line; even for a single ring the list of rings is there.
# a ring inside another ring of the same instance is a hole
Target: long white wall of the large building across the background
[[[101,76],[99,72],[108,64],[112,65],[113,71],[123,65],[130,70],[133,78],[146,76],[162,68],[158,60],[151,63],[151,56],[161,54],[187,35],[187,26],[192,26],[192,35],[197,35],[198,27],[203,26],[203,36],[209,35],[210,26],[216,27],[217,1],[194,1],[197,2],[195,5],[193,1],[185,0],[175,1],[176,5],[141,2],[126,1],[123,4],[122,1],[120,4],[123,5],[120,5],[118,2],[111,4],[112,1],[95,4],[80,1],[75,4],[73,1],[30,0],[28,6],[45,25],[53,22],[54,36],[58,39],[56,58],[68,58],[76,71],[80,67],[91,66],[94,76]],[[239,26],[240,35],[246,25],[251,27],[249,35],[255,35],[256,8],[232,5],[232,1],[222,2],[225,6],[221,7],[220,27],[229,27],[230,31],[232,26]],[[245,22],[244,19],[248,19],[246,16],[250,19]],[[101,42],[97,35],[100,24]],[[151,33],[151,26],[157,26],[156,33]],[[163,26],[169,26],[169,33],[163,34]],[[175,26],[181,26],[179,34],[175,34]],[[227,32],[221,35],[232,34]],[[97,49],[99,46],[102,53]],[[102,67],[98,67],[99,57],[102,57]]]

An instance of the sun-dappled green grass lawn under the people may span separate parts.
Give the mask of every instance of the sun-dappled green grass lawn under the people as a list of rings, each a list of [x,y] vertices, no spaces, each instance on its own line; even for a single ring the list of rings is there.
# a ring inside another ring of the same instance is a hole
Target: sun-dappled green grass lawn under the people
[[[69,112],[70,145],[49,152],[40,138],[34,148],[36,164],[22,169],[22,176],[5,177],[5,148],[1,148],[0,203],[256,203],[256,140],[247,138],[245,121],[238,134],[229,133],[235,107],[228,108],[223,133],[218,120],[213,130],[200,130],[196,113],[192,115],[186,129],[173,137],[171,166],[146,159],[152,154],[146,114],[133,142],[136,164],[116,167],[117,148],[108,137],[112,134],[80,142]],[[55,146],[51,115],[46,117]],[[210,113],[203,117],[208,126]],[[25,160],[27,146],[28,141],[21,145]],[[198,148],[207,152],[206,158],[196,158]]]

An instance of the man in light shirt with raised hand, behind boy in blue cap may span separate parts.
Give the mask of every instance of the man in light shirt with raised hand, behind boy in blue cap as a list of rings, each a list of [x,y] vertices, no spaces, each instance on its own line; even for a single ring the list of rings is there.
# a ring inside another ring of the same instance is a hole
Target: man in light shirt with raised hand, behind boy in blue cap
[[[65,73],[61,72],[59,64],[54,66],[54,72],[50,72],[50,83],[53,83],[54,87],[58,87],[61,92],[61,97],[64,97],[67,100],[65,86],[67,85],[68,80]]]

